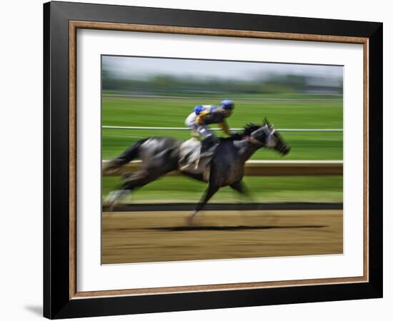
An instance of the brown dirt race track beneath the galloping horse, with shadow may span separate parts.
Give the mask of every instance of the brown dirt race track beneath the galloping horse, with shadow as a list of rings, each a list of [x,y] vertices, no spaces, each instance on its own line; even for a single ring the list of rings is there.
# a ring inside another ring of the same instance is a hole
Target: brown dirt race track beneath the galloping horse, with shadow
[[[104,212],[102,263],[338,254],[342,210]]]

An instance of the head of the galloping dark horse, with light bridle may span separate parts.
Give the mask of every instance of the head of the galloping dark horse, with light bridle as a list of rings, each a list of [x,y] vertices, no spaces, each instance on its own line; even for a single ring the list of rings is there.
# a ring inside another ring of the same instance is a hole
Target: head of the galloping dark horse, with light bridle
[[[272,148],[281,153],[282,156],[287,155],[291,150],[267,118],[264,118],[262,126],[257,126],[253,123],[248,124],[244,134],[249,136],[252,142],[260,144],[261,147]]]

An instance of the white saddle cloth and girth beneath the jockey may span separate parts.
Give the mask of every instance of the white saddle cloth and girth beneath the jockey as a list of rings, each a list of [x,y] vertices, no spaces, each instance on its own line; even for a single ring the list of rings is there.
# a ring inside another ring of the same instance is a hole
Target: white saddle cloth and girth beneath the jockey
[[[181,143],[179,153],[179,170],[191,174],[202,174],[207,181],[210,173],[210,161],[214,156],[214,151],[218,144],[209,148],[208,156],[201,156],[201,142],[197,138],[190,138],[188,141]]]

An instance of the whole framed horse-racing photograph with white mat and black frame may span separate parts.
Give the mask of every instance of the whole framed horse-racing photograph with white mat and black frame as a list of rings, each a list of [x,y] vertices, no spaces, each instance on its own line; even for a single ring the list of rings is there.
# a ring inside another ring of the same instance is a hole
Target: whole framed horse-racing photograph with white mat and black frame
[[[44,316],[382,297],[382,24],[44,4]]]

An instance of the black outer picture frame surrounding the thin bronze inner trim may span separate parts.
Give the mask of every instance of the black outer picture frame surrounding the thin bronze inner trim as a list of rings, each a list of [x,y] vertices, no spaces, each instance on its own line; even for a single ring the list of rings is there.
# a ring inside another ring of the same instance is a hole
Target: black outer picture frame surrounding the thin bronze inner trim
[[[369,39],[369,281],[70,298],[69,21]],[[136,6],[44,4],[44,317],[90,317],[382,297],[382,23]]]

